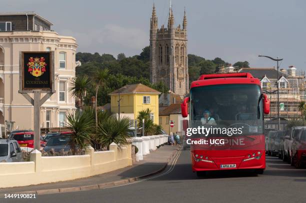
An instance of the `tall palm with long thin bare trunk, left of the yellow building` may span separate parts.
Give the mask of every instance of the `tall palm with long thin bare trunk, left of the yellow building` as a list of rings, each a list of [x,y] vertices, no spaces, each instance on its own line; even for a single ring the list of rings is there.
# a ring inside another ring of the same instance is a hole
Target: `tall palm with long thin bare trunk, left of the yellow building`
[[[95,87],[95,128],[98,126],[98,117],[97,117],[97,93],[100,87],[103,87],[107,84],[107,79],[109,76],[109,70],[107,68],[96,71],[94,76],[94,87]]]

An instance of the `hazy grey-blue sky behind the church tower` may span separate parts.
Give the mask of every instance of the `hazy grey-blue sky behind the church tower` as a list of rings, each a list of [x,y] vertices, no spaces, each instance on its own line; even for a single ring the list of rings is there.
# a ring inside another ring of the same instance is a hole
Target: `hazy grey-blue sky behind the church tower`
[[[158,26],[167,24],[169,0],[154,0]],[[1,0],[0,11],[35,11],[52,29],[76,38],[78,51],[127,56],[149,44],[153,0]],[[281,68],[306,70],[306,0],[172,0],[175,23],[184,6],[188,53],[271,67],[258,54],[283,57]]]

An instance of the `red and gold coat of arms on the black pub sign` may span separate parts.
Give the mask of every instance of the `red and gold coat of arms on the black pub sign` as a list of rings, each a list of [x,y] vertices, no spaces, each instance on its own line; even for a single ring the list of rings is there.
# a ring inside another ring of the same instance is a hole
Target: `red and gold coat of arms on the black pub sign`
[[[27,63],[27,72],[34,77],[41,76],[46,71],[47,64],[44,62],[44,57],[30,57]]]

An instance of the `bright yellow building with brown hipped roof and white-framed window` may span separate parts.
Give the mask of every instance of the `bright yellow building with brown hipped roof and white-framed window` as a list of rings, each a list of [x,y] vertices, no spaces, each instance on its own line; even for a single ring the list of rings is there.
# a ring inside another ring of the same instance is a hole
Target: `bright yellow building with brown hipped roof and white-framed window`
[[[118,113],[118,100],[120,98],[120,117],[127,116],[135,120],[138,112],[149,108],[151,119],[158,125],[158,95],[160,92],[141,83],[125,85],[110,95],[110,111]]]

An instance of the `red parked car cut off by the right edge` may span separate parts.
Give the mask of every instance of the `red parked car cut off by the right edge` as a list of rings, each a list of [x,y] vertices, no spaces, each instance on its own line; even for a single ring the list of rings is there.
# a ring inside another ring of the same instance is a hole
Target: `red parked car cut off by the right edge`
[[[292,137],[291,166],[299,169],[306,163],[306,128],[295,130]]]

